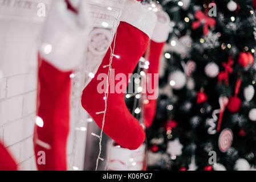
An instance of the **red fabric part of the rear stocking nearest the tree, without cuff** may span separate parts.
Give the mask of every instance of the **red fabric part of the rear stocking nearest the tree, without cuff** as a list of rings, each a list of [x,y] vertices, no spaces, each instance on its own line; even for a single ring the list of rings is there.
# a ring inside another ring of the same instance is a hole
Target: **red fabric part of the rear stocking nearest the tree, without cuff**
[[[152,74],[152,80],[147,80],[151,82],[151,85],[153,86],[153,78],[155,73],[159,73],[159,63],[160,63],[160,57],[162,55],[162,49],[164,48],[165,42],[157,43],[153,40],[150,42],[150,48],[149,48],[149,68],[147,69],[147,74],[151,73]],[[156,93],[156,89],[153,93],[148,93],[147,92],[147,98],[148,96],[151,96]],[[148,100],[148,104],[143,104],[143,118],[145,121],[145,126],[150,127],[153,119],[155,118],[156,115],[156,102],[157,99],[154,100]]]

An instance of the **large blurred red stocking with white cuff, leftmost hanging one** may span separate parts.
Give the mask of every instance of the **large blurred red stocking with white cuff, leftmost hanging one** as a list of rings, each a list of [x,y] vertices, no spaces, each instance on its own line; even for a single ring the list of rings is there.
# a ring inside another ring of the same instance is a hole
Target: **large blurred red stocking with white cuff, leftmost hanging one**
[[[54,1],[39,34],[34,130],[39,170],[67,170],[71,73],[82,61],[86,49],[91,27],[87,7],[84,0]]]

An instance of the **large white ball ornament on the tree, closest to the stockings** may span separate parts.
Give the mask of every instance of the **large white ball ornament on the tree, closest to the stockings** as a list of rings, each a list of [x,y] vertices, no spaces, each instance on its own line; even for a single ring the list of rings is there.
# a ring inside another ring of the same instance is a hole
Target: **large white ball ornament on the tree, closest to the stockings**
[[[186,76],[181,71],[174,71],[170,74],[170,86],[172,86],[173,89],[180,90],[184,87],[186,84]]]

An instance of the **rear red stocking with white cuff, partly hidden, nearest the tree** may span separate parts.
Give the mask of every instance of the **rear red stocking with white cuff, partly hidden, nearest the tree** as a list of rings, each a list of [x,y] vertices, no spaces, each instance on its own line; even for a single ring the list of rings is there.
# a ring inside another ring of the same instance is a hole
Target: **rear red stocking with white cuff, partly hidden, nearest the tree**
[[[158,80],[154,80],[154,74],[159,73],[159,63],[160,57],[162,55],[162,49],[164,48],[165,42],[168,39],[169,35],[169,15],[164,11],[160,11],[157,13],[157,23],[155,30],[153,32],[150,44],[149,44],[149,55],[146,57],[149,61],[149,68],[145,70],[145,72],[151,73],[152,76],[147,79],[147,101],[143,104],[143,118],[145,121],[145,126],[149,127],[152,124],[152,121],[156,114],[156,95],[158,94],[158,85],[155,87],[154,82]],[[146,55],[147,56],[147,55]],[[152,79],[150,79],[152,78]],[[157,76],[157,79],[159,77]],[[149,89],[151,92],[149,92]]]

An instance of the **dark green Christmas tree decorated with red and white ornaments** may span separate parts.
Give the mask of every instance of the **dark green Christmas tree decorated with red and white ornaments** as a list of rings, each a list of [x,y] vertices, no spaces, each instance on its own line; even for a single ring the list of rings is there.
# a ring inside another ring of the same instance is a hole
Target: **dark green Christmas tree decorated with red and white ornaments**
[[[145,2],[145,1],[144,1]],[[170,16],[148,169],[256,164],[254,1],[147,1]]]

